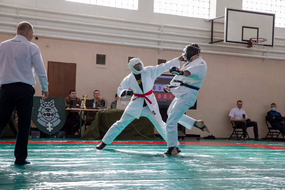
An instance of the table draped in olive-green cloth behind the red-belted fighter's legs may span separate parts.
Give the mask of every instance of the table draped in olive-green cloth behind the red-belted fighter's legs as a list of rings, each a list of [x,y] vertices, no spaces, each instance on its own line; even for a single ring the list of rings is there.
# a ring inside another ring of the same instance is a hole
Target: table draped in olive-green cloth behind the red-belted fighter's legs
[[[97,112],[93,122],[84,131],[81,138],[89,140],[102,139],[109,128],[117,120],[120,120],[123,113],[124,110],[121,109],[102,110]],[[125,127],[116,139],[155,139],[154,126],[146,117],[134,119]]]

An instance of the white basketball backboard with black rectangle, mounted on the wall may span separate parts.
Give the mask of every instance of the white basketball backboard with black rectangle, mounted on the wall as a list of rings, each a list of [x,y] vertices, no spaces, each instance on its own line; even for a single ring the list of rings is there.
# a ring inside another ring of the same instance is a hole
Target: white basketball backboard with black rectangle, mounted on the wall
[[[265,38],[263,46],[274,47],[275,14],[225,8],[224,43],[247,44],[250,38]]]

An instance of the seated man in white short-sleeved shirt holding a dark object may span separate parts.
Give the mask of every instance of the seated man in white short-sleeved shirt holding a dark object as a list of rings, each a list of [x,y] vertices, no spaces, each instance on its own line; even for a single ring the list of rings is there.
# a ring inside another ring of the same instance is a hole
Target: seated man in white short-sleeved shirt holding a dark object
[[[248,119],[245,111],[241,109],[242,107],[243,107],[243,102],[241,100],[237,101],[237,107],[232,109],[229,114],[231,121],[235,122],[235,126],[242,127],[243,140],[247,140],[247,127],[253,126],[254,140],[263,141],[260,138],[258,138],[257,122]]]

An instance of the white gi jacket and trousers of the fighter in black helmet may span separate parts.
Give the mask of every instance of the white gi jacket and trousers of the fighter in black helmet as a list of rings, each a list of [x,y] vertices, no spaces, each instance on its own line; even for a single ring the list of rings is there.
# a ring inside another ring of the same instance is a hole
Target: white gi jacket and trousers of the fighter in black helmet
[[[178,138],[177,123],[182,124],[188,129],[192,129],[196,122],[195,119],[188,117],[184,113],[195,104],[198,90],[180,86],[180,83],[175,81],[182,81],[184,84],[200,88],[207,73],[207,65],[206,62],[199,57],[192,62],[186,62],[181,70],[187,70],[191,75],[188,77],[175,75],[170,82],[170,86],[172,87],[171,92],[175,98],[167,110],[168,119],[166,121],[166,132],[168,147],[176,146],[176,140]]]

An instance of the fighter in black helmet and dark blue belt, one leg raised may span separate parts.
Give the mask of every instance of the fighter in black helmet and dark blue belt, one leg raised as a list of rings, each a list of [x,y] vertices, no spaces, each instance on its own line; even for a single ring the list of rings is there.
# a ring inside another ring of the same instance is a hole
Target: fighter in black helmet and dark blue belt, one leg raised
[[[197,99],[198,90],[207,73],[207,65],[200,57],[200,46],[198,44],[190,44],[184,48],[184,53],[180,56],[180,60],[186,61],[181,70],[177,67],[171,67],[170,72],[176,74],[170,85],[164,87],[165,91],[170,91],[175,96],[170,104],[166,121],[166,132],[168,150],[164,154],[178,154],[176,152],[177,122],[188,129],[196,126],[203,131],[210,132],[204,125],[203,120],[195,120],[188,117],[184,113],[194,105]],[[177,61],[178,62],[178,61]]]

